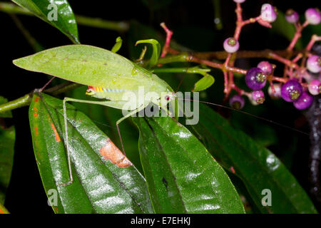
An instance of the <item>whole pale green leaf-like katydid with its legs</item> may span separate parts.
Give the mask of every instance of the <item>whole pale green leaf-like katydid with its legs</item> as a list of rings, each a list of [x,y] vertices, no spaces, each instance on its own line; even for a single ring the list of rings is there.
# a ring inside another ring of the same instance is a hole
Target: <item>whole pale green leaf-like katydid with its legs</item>
[[[61,46],[16,59],[14,64],[29,71],[46,73],[67,81],[86,85],[88,86],[87,95],[107,99],[104,101],[63,99],[66,149],[70,172],[70,181],[66,185],[73,182],[68,145],[66,102],[92,103],[129,110],[127,115],[124,115],[123,118],[116,122],[120,139],[118,125],[121,121],[143,110],[150,103],[158,105],[158,107],[166,110],[168,114],[172,114],[167,109],[167,105],[169,102],[175,102],[175,93],[168,86],[168,83],[127,58],[103,48],[87,45]],[[140,94],[141,87],[143,87],[144,94]],[[129,92],[138,97],[138,102],[131,101],[131,98],[128,97]],[[153,95],[146,96],[146,93],[153,93]],[[143,100],[140,100],[142,95]],[[128,106],[128,103],[130,103],[130,106]],[[122,140],[121,145],[123,149]]]

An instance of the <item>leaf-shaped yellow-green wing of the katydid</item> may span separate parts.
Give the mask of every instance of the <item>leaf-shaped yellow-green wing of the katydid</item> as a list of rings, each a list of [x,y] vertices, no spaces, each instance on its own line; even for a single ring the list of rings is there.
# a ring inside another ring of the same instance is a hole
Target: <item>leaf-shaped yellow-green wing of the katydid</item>
[[[75,83],[103,88],[123,88],[125,80],[126,85],[138,88],[148,81],[150,76],[147,74],[148,71],[141,71],[127,58],[88,45],[67,45],[47,49],[16,59],[14,64],[28,71],[46,73]]]

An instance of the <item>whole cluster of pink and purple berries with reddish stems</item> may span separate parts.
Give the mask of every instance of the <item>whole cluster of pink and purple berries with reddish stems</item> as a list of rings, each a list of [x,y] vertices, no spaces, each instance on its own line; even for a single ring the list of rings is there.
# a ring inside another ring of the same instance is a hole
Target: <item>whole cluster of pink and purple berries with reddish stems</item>
[[[240,4],[245,0],[233,0],[237,3],[237,14],[240,11]],[[241,26],[258,22],[259,24],[270,27],[270,23],[277,18],[276,9],[270,4],[263,4],[260,16],[243,21],[242,17],[238,15],[238,24]],[[287,51],[291,52],[297,42],[297,39],[302,35],[302,29],[308,24],[320,24],[321,14],[318,9],[307,9],[305,11],[305,23],[300,24],[299,15],[293,9],[287,10],[285,19],[290,24],[294,24],[297,32],[288,46]],[[241,27],[240,27],[241,28]],[[240,35],[240,28],[235,29],[235,36],[226,38],[223,47],[228,52],[228,58],[225,61],[226,66],[229,66],[230,55],[235,53],[240,48],[238,37]],[[238,31],[238,32],[237,32]],[[321,93],[321,57],[310,52],[312,45],[316,41],[321,41],[321,37],[314,35],[310,43],[305,48],[305,52],[299,53],[292,60],[277,56],[271,53],[270,57],[285,64],[285,74],[283,77],[273,76],[275,65],[268,61],[261,61],[257,67],[248,69],[245,73],[245,83],[252,90],[248,93],[233,84],[233,89],[238,92],[238,95],[230,97],[230,105],[233,108],[243,108],[245,100],[242,95],[248,96],[253,105],[262,104],[265,100],[263,88],[267,81],[270,83],[267,89],[268,94],[272,99],[282,98],[283,100],[293,103],[298,110],[309,108],[313,102],[313,95]],[[301,64],[297,61],[301,59]],[[225,73],[226,74],[226,73]],[[225,78],[226,79],[226,78]],[[277,83],[275,83],[277,81]],[[228,91],[228,93],[226,92]],[[226,95],[229,95],[229,90],[225,89]]]

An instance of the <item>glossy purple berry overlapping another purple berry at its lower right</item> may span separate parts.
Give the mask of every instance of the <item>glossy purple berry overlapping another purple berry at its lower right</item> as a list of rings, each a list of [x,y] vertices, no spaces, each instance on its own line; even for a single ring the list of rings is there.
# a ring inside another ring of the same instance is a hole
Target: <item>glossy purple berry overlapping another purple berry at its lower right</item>
[[[302,86],[301,84],[292,79],[283,84],[281,88],[281,96],[287,102],[293,102],[300,98],[302,95]]]

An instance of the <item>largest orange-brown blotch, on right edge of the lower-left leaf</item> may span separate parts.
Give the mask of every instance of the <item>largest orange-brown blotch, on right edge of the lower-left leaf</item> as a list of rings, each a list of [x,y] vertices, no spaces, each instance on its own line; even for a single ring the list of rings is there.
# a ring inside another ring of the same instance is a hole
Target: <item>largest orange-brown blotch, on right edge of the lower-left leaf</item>
[[[113,164],[117,165],[118,167],[128,167],[133,165],[128,158],[123,155],[121,150],[116,147],[113,142],[108,138],[106,144],[101,147],[101,155],[103,156],[104,160],[110,160]]]

